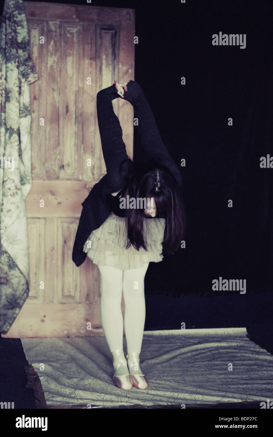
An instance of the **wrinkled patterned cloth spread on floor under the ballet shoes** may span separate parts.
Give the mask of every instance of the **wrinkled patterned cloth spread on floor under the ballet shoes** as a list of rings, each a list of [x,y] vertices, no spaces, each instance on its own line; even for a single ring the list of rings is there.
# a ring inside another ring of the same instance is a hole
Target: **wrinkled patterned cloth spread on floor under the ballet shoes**
[[[273,356],[246,334],[245,328],[145,331],[140,354],[150,384],[145,390],[122,390],[113,384],[105,337],[21,341],[41,380],[47,406],[184,403],[187,407],[272,398]],[[125,337],[123,350],[126,354]]]

